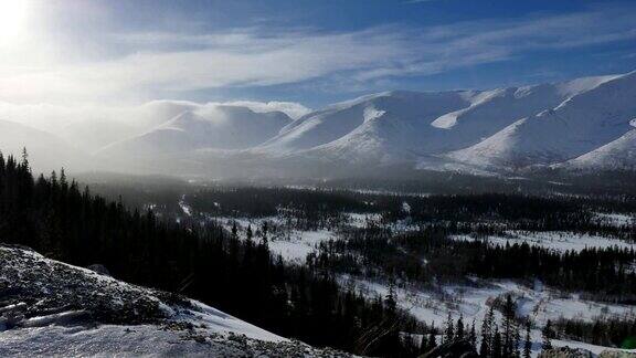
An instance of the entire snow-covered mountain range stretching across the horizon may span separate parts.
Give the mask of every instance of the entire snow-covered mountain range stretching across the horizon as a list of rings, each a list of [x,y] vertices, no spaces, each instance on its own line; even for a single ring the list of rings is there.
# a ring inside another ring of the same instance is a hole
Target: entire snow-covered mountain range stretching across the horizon
[[[35,162],[42,151],[61,156],[60,164],[88,162],[81,169],[210,176],[636,169],[636,72],[489,91],[386,92],[296,119],[237,104],[165,101],[137,112],[130,120],[87,119],[36,135],[3,122],[11,130],[0,133],[0,146],[23,144]]]

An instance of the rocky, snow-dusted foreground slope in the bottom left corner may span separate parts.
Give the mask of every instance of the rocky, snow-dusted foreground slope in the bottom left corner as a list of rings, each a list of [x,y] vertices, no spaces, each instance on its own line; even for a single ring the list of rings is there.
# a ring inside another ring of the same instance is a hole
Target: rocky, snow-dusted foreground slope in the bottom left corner
[[[346,356],[202,303],[0,244],[0,356]]]

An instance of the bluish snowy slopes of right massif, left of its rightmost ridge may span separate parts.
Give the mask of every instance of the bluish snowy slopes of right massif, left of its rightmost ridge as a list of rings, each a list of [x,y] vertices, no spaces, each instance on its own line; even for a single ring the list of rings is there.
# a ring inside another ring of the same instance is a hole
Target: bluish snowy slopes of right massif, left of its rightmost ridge
[[[521,118],[615,80],[617,76],[601,76],[491,91],[399,91],[364,96],[295,120],[253,152],[344,164],[413,164],[420,158],[436,166],[456,159],[470,161],[460,156],[442,159],[441,155],[479,145]]]

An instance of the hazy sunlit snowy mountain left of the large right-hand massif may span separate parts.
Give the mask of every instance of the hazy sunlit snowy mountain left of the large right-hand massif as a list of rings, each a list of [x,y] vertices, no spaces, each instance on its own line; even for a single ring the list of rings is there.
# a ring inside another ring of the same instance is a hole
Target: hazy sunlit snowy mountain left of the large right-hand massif
[[[157,155],[200,148],[244,149],[275,136],[292,119],[282,112],[256,113],[241,106],[186,110],[139,136],[100,150],[106,155]]]

